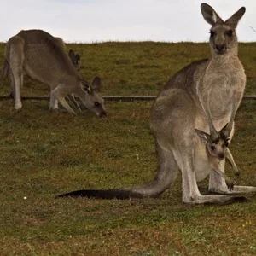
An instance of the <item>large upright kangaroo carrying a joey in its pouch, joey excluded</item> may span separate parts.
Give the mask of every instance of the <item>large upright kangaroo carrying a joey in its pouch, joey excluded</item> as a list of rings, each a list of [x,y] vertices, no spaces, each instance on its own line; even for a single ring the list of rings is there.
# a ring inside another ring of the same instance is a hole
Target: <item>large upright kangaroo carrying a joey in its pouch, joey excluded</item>
[[[177,72],[161,90],[150,112],[154,131],[158,172],[154,180],[138,188],[78,190],[59,197],[142,198],[157,196],[170,187],[182,172],[183,202],[192,204],[247,201],[237,192],[256,191],[255,187],[234,186],[230,190],[224,177],[212,170],[204,143],[195,129],[209,133],[212,124],[220,131],[235,117],[245,89],[246,75],[238,58],[236,26],[245,13],[241,7],[228,20],[222,20],[207,3],[201,4],[204,19],[212,26],[212,57],[195,61]],[[207,114],[206,114],[207,113]],[[209,114],[211,113],[211,115]],[[230,124],[230,139],[234,122]],[[218,170],[224,173],[225,160]],[[225,195],[201,195],[197,182],[209,175],[209,191]]]

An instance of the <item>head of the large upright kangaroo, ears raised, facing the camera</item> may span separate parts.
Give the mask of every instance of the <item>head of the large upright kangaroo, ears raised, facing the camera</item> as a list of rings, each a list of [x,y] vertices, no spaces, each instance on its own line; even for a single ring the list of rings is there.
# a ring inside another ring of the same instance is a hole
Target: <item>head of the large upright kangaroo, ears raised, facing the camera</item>
[[[236,26],[245,11],[245,7],[241,7],[228,20],[224,21],[210,5],[201,3],[201,13],[204,19],[212,25],[210,45],[213,54],[224,55],[233,50],[237,51]]]

